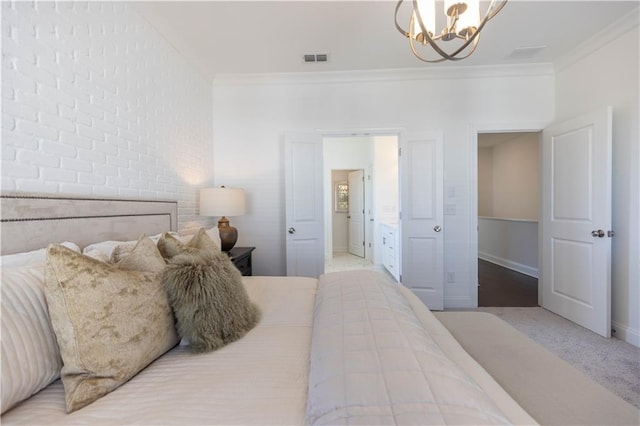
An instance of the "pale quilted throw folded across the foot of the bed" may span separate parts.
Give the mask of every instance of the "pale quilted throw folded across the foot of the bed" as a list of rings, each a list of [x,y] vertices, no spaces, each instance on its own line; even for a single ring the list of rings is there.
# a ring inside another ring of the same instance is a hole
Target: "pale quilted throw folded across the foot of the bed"
[[[508,424],[399,288],[371,271],[321,277],[307,423]]]

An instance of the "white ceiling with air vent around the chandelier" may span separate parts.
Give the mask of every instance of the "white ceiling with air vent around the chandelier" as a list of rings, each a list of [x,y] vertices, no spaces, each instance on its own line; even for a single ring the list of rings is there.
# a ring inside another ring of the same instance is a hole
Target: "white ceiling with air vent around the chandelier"
[[[407,39],[394,25],[395,1],[135,4],[210,79],[219,74],[452,66],[451,62],[424,64],[412,55]],[[453,65],[555,63],[632,11],[637,14],[638,4],[638,0],[510,0],[482,31],[476,52]],[[516,48],[534,46],[546,47],[528,59],[506,58]],[[329,61],[306,64],[302,60],[306,53],[327,53]]]

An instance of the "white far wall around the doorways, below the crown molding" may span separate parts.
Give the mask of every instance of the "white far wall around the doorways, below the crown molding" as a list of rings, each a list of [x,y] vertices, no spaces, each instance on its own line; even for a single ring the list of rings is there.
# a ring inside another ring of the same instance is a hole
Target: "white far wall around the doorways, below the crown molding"
[[[445,306],[474,306],[475,248],[471,255],[469,246],[477,214],[470,195],[470,188],[477,187],[471,163],[473,130],[495,123],[550,122],[553,75],[546,67],[473,68],[464,73],[468,78],[459,78],[458,71],[418,70],[239,76],[214,82],[215,178],[252,194],[255,211],[235,222],[249,238],[246,243],[257,246],[255,272],[285,273],[286,131],[442,130],[445,202],[456,206],[456,215],[446,216],[444,223],[445,269],[457,277],[445,287]]]

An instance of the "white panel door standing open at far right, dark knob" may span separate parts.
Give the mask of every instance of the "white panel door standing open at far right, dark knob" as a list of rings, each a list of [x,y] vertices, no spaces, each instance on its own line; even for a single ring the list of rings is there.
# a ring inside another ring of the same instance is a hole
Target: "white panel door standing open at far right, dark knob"
[[[543,132],[541,305],[611,335],[611,108]]]

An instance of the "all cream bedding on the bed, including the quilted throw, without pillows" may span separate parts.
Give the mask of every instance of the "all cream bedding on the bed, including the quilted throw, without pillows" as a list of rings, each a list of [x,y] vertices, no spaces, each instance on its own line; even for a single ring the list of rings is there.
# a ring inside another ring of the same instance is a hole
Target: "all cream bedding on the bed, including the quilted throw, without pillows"
[[[244,284],[263,313],[244,338],[199,355],[178,346],[72,414],[54,382],[2,423],[535,423],[410,291],[379,273]]]

